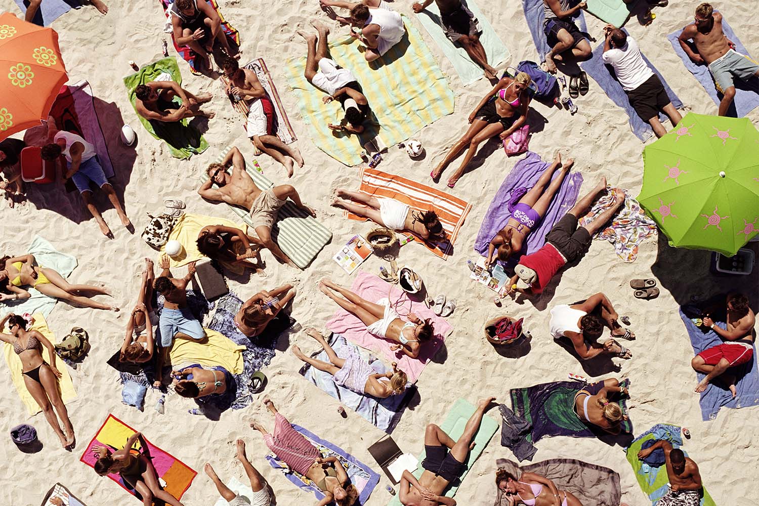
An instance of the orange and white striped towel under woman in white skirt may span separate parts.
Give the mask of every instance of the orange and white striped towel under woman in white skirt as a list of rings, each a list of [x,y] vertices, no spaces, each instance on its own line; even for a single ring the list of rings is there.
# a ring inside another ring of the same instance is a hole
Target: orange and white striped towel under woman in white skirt
[[[452,253],[453,244],[458,237],[458,231],[471,210],[471,204],[457,196],[449,195],[425,184],[411,181],[395,174],[387,174],[376,168],[364,167],[361,169],[361,187],[359,191],[377,197],[395,199],[406,203],[413,209],[423,211],[433,210],[437,213],[442,228],[446,231],[445,240],[435,242],[427,241],[414,235],[417,243],[424,244],[428,250],[442,259],[448,259]],[[366,222],[368,218],[354,215],[345,211],[343,215],[357,222]]]

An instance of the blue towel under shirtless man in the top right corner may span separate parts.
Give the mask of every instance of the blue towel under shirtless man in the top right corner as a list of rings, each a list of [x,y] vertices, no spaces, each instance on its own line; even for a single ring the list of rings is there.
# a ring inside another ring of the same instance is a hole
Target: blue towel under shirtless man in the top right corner
[[[742,55],[748,55],[745,46],[743,46],[738,37],[735,36],[735,33],[732,31],[732,28],[730,28],[730,25],[727,24],[727,20],[724,17],[722,20],[722,31],[728,39],[735,42],[735,51]],[[707,68],[706,65],[697,65],[691,61],[691,58],[688,58],[688,55],[682,50],[682,46],[680,46],[680,42],[677,39],[680,33],[682,33],[682,30],[677,30],[674,33],[670,33],[666,38],[669,39],[672,48],[675,49],[675,52],[682,60],[682,64],[685,65],[685,68],[693,74],[693,77],[701,83],[701,86],[704,86],[704,90],[707,90],[707,93],[714,103],[719,105],[720,100],[722,99],[722,94],[717,93],[709,68]],[[732,105],[730,105],[727,114],[734,118],[743,118],[759,105],[759,79],[754,77],[748,82],[743,82],[742,80],[735,78],[735,85],[735,99],[733,99]],[[716,111],[714,114],[716,114]]]

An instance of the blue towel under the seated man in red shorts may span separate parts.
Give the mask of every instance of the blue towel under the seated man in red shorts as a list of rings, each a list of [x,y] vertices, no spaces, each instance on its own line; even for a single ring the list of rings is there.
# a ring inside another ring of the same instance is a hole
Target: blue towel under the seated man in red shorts
[[[720,336],[716,335],[716,332],[713,330],[704,332],[703,328],[696,326],[688,316],[696,316],[690,307],[681,307],[679,313],[682,322],[685,323],[685,330],[688,331],[688,338],[691,340],[694,354],[699,354],[701,351],[723,342]],[[725,322],[716,322],[716,325],[720,328],[726,328]],[[723,387],[723,385],[710,383],[707,389],[701,392],[701,400],[699,401],[699,404],[701,404],[701,420],[714,420],[716,413],[723,406],[739,408],[759,404],[759,372],[757,372],[756,346],[754,346],[754,357],[751,362],[733,367],[730,372],[738,378],[738,381],[735,383],[738,395],[733,399],[730,391]],[[706,375],[698,372],[697,376],[698,381],[701,381]]]

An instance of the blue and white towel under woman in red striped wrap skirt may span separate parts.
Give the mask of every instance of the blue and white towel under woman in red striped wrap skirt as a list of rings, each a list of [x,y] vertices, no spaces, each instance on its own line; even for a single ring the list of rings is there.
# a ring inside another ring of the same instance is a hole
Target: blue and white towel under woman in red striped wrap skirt
[[[337,457],[340,460],[340,464],[345,468],[345,473],[348,474],[348,479],[358,490],[358,501],[356,504],[366,504],[374,487],[379,483],[379,474],[375,473],[371,467],[367,466],[367,464],[364,464],[339,446],[332,445],[332,443],[313,434],[313,432],[295,425],[294,423],[292,424],[292,428],[300,432],[308,442],[314,445],[319,450],[322,457]],[[271,467],[285,473],[287,479],[290,480],[294,486],[297,486],[304,492],[313,493],[313,495],[315,495],[320,501],[325,497],[322,489],[317,487],[314,482],[306,476],[290,470],[287,464],[285,464],[284,461],[279,460],[275,455],[266,455],[266,460],[269,461]]]

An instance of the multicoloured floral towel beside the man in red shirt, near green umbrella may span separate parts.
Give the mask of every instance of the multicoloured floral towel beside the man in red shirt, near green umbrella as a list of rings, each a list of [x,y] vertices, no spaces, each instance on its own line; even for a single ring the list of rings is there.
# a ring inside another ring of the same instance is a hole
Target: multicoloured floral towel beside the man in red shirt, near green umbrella
[[[617,256],[622,262],[635,262],[638,258],[638,246],[647,237],[656,234],[657,224],[641,209],[638,200],[632,198],[630,192],[623,188],[606,187],[606,195],[594,203],[591,210],[580,218],[580,226],[587,225],[601,212],[613,206],[619,191],[625,193],[625,206],[612,218],[611,224],[597,231],[594,239],[606,239],[614,246]]]

